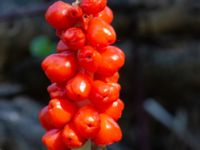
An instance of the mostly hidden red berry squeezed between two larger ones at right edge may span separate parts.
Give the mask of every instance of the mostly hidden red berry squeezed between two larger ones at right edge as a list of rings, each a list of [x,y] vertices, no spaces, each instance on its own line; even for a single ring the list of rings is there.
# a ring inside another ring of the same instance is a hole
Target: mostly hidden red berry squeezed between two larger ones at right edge
[[[106,83],[109,83],[109,82],[117,83],[118,80],[119,80],[119,73],[115,72],[111,76],[104,76],[104,75],[100,75],[98,73],[95,73],[94,79],[95,80],[101,80],[101,81],[106,82]]]

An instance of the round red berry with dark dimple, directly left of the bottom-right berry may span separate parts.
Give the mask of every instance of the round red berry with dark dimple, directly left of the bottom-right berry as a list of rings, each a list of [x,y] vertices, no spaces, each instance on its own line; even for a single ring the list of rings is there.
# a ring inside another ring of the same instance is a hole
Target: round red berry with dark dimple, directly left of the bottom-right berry
[[[94,137],[100,129],[99,113],[89,105],[78,110],[73,122],[77,131],[85,138]]]

